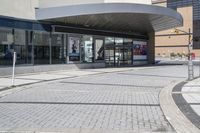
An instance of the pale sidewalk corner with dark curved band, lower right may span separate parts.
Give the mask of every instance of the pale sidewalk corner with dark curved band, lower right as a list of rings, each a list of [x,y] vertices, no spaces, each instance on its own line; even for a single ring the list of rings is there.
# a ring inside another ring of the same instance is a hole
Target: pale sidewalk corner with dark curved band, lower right
[[[192,81],[185,81],[173,87],[171,92],[172,98],[177,109],[181,111],[183,117],[178,118],[178,121],[184,128],[197,129],[200,132],[200,78]]]

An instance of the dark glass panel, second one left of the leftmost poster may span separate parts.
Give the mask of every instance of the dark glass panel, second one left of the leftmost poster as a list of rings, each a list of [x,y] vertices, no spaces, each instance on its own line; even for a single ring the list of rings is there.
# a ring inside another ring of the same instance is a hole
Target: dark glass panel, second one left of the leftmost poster
[[[34,32],[34,64],[50,63],[49,38],[49,33]]]

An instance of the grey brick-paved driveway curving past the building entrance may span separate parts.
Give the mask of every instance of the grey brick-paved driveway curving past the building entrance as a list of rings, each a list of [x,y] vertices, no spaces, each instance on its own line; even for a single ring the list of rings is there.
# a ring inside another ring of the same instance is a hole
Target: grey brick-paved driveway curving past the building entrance
[[[173,132],[159,92],[186,77],[186,66],[158,66],[27,85],[0,98],[0,130]]]

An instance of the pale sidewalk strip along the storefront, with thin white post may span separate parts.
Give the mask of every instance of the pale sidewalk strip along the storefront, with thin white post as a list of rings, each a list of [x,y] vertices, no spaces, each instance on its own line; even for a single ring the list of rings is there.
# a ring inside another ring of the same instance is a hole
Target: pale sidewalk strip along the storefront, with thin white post
[[[15,86],[33,84],[44,81],[52,81],[64,78],[73,78],[79,76],[103,74],[117,71],[139,70],[145,67],[129,67],[129,68],[100,68],[100,69],[74,69],[74,70],[59,70],[41,73],[28,73],[15,76]],[[150,68],[150,67],[148,67]],[[0,91],[8,89],[12,86],[11,76],[0,77]]]

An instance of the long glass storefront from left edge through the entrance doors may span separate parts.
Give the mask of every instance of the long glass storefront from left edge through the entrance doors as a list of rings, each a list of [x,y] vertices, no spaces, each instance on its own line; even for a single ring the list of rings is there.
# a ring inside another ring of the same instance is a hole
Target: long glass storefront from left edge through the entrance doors
[[[0,25],[9,24],[1,21]],[[137,38],[51,32],[42,24],[15,23],[0,27],[0,65],[11,66],[14,52],[17,65],[94,62],[108,67],[133,65],[133,40]]]

